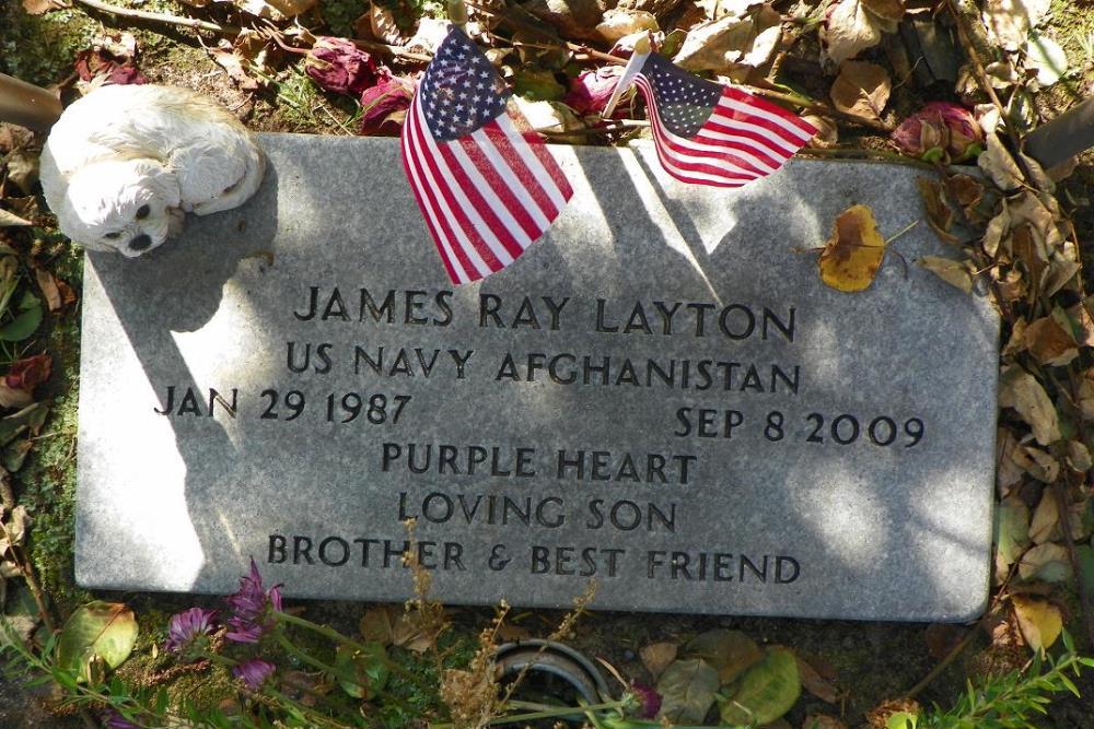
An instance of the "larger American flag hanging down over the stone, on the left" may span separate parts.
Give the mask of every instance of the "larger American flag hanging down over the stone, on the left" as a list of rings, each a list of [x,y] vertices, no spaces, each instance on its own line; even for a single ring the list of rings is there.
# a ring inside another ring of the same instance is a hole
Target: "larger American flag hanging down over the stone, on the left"
[[[454,283],[512,263],[573,190],[510,92],[455,25],[403,127],[403,166]]]

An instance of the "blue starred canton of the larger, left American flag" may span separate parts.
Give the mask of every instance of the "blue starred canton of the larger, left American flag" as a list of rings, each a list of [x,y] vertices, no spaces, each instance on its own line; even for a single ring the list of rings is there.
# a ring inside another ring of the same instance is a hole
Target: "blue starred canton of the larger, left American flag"
[[[452,26],[418,93],[426,124],[441,142],[466,137],[505,110],[510,91],[486,56]]]

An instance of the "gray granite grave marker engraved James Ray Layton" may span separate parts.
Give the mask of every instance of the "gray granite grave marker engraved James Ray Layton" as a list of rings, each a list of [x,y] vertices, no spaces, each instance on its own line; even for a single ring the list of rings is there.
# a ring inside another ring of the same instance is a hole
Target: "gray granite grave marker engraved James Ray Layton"
[[[602,609],[984,609],[997,315],[892,257],[839,293],[801,250],[853,203],[886,236],[919,219],[915,171],[792,161],[723,191],[650,148],[552,148],[570,207],[456,289],[395,141],[263,144],[243,208],[89,256],[81,585],[228,593],[254,555],[289,596],[401,600],[417,516],[449,603],[595,579]],[[895,245],[952,256],[926,224]]]

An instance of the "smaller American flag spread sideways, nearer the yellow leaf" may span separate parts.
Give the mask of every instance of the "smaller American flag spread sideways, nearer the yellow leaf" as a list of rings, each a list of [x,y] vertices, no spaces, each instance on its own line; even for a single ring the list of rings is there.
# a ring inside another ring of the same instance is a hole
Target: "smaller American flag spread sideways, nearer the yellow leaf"
[[[657,157],[685,183],[740,187],[769,175],[817,132],[785,109],[650,54],[635,79]]]

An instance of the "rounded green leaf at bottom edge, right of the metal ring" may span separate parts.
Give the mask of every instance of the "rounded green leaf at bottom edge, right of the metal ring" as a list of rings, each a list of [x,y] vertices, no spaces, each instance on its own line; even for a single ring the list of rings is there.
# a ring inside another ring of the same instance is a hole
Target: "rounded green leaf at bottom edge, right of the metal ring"
[[[722,702],[722,721],[769,724],[789,712],[801,693],[794,654],[787,648],[769,648],[764,660],[741,678],[736,693]]]

